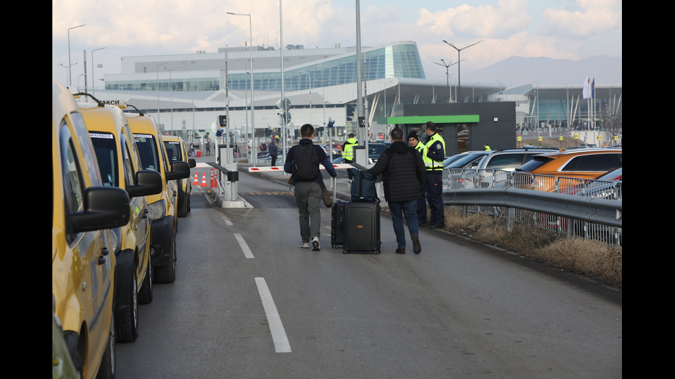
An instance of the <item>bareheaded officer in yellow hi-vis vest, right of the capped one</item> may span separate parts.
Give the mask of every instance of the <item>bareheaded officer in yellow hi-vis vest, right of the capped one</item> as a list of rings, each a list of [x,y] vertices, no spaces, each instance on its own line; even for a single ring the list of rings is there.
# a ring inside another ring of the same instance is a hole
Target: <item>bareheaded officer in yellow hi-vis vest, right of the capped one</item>
[[[424,124],[427,142],[422,158],[426,166],[426,199],[429,203],[429,222],[422,226],[440,229],[445,226],[443,208],[443,161],[446,143],[436,132],[436,124],[429,121]]]

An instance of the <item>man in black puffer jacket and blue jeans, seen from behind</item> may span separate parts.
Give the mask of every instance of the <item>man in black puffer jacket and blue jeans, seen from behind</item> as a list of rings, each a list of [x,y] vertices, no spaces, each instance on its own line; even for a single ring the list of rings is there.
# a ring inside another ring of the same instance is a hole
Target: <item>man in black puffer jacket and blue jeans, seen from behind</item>
[[[384,198],[389,205],[391,221],[396,234],[396,253],[406,253],[406,231],[403,215],[406,217],[408,232],[413,241],[413,252],[422,252],[417,226],[417,198],[424,194],[426,169],[422,155],[403,141],[403,131],[393,129],[390,133],[391,146],[386,149],[368,173],[383,173]]]

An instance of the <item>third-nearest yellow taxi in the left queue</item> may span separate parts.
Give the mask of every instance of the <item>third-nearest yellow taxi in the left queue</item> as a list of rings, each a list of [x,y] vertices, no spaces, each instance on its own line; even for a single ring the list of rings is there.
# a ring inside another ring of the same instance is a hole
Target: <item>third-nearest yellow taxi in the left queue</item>
[[[128,109],[128,107],[127,107]],[[136,109],[138,111],[138,109]],[[173,283],[176,280],[176,180],[190,176],[187,162],[169,162],[153,118],[141,111],[126,113],[129,128],[134,133],[141,167],[162,175],[162,192],[147,196],[150,219],[152,219],[151,259],[156,283]]]

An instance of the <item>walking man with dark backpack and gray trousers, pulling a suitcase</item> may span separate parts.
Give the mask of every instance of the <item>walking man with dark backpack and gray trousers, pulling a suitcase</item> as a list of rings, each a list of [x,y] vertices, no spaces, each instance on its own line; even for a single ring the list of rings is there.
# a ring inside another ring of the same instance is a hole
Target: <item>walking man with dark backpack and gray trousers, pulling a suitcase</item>
[[[312,143],[314,127],[304,124],[300,127],[300,142],[289,149],[284,162],[284,171],[291,174],[290,184],[295,186],[295,204],[300,214],[300,248],[313,251],[321,250],[319,243],[323,178],[319,163],[323,164],[331,177],[337,177],[337,171],[331,164],[324,149]]]

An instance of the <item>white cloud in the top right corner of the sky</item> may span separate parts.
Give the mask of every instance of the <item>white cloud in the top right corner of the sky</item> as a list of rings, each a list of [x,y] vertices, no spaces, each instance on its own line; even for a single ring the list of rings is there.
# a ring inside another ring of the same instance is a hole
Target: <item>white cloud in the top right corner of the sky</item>
[[[546,8],[539,27],[542,34],[590,36],[621,28],[621,0],[576,0],[571,9]]]

